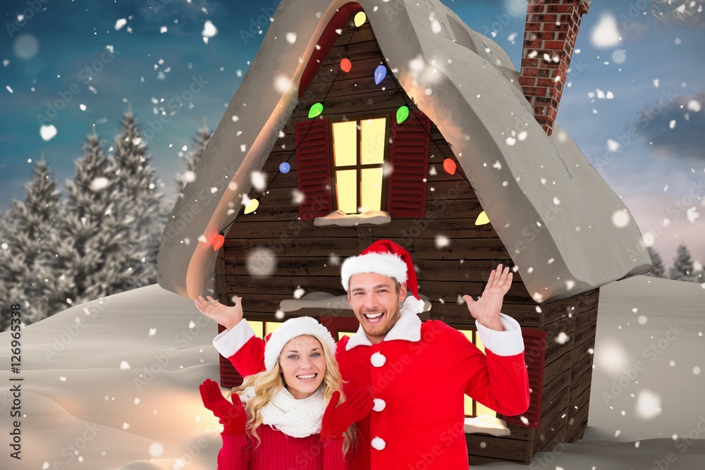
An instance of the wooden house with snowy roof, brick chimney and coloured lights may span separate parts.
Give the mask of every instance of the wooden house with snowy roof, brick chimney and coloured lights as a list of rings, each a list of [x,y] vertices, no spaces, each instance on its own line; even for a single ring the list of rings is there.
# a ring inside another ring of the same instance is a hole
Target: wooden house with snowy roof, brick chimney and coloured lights
[[[580,439],[599,287],[651,267],[623,202],[554,123],[588,8],[529,0],[517,72],[438,0],[282,1],[164,229],[159,284],[239,295],[262,335],[312,315],[339,336],[357,330],[341,261],[389,238],[412,254],[425,318],[477,343],[460,296],[513,266],[503,312],[522,326],[531,404],[499,416],[503,433],[466,426],[470,462]],[[221,358],[221,384],[238,380]]]

